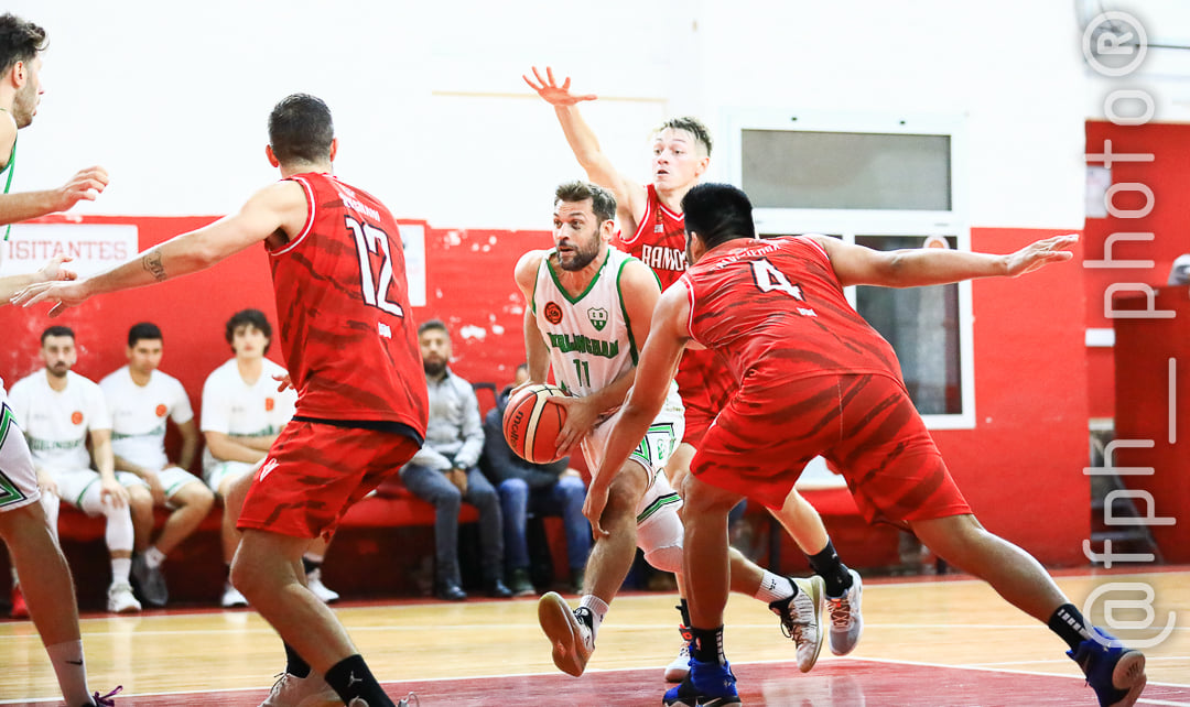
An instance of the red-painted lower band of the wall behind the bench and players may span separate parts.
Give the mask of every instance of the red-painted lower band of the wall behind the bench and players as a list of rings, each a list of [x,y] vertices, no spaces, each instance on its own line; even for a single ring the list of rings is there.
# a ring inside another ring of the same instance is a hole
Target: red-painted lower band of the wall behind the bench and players
[[[142,248],[209,218],[87,218],[134,223]],[[972,230],[976,250],[1008,252],[1053,234]],[[550,243],[544,231],[426,229],[427,306],[455,334],[456,373],[502,386],[524,359],[519,256]],[[1082,269],[1054,267],[1012,281],[977,281],[975,296],[975,430],[939,431],[939,446],[981,520],[1051,564],[1083,562],[1089,533],[1086,354]],[[198,408],[202,381],[225,361],[224,321],[243,307],[274,317],[268,265],[250,249],[212,270],[154,288],[99,299],[60,319],[75,327],[76,370],[99,378],[124,363],[127,327],[156,321],[165,334],[163,370],[181,378]],[[10,383],[40,364],[37,336],[44,309],[0,308],[0,375]],[[483,336],[464,336],[466,331]],[[1040,512],[1045,523],[1038,523]]]

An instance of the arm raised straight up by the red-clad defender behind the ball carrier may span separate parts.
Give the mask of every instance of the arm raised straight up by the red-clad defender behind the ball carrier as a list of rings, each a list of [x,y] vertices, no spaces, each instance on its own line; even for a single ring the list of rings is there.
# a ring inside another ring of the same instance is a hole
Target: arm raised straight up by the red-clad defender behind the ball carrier
[[[575,154],[578,164],[587,171],[587,179],[601,187],[606,187],[615,195],[616,217],[625,233],[632,233],[637,229],[640,214],[645,212],[645,199],[647,193],[645,187],[625,177],[615,169],[612,161],[600,148],[595,132],[583,120],[578,112],[578,104],[593,101],[595,94],[575,94],[570,90],[570,77],[559,86],[553,77],[553,69],[545,68],[545,75],[533,67],[533,77],[521,75],[530,88],[537,92],[545,102],[553,106],[553,112],[562,125],[562,132],[566,136],[570,151]]]

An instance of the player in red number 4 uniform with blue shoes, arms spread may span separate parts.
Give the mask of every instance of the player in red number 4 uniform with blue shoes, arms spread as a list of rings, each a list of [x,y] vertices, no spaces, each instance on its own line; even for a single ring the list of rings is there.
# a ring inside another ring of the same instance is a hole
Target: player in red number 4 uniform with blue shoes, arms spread
[[[727,512],[744,496],[781,506],[815,455],[841,470],[870,523],[912,528],[939,557],[1045,622],[1070,645],[1101,705],[1133,705],[1146,682],[1145,656],[1088,624],[1036,559],[979,525],[909,400],[892,348],[843,293],[852,284],[1016,277],[1071,259],[1078,237],[1008,255],[884,252],[823,236],[757,239],[752,204],[727,184],[695,187],[683,206],[691,268],[657,305],[637,386],[584,508],[593,524],[603,515],[619,464],[665,405],[682,350],[696,342],[724,355],[740,387],[683,487],[694,656],[690,676],[665,694],[665,705],[739,701],[724,653]]]

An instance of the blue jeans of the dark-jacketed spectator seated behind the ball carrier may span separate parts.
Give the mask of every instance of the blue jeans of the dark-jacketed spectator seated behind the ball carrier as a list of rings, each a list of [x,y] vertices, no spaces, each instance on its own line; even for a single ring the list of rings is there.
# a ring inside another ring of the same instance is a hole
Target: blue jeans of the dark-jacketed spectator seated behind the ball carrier
[[[528,542],[525,524],[528,512],[534,515],[560,515],[566,536],[566,562],[571,570],[583,569],[591,550],[591,527],[583,517],[587,488],[578,476],[562,476],[558,483],[530,492],[521,478],[500,482],[500,508],[505,517],[505,548],[508,567],[528,568]]]

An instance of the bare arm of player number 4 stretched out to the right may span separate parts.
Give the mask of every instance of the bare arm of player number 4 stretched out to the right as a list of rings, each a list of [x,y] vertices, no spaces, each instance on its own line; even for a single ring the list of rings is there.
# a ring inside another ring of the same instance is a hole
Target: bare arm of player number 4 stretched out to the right
[[[991,255],[939,248],[879,251],[843,243],[838,238],[810,236],[831,258],[839,282],[882,287],[947,284],[975,277],[1017,277],[1050,263],[1069,261],[1078,242],[1075,233],[1044,238],[1016,252]]]

